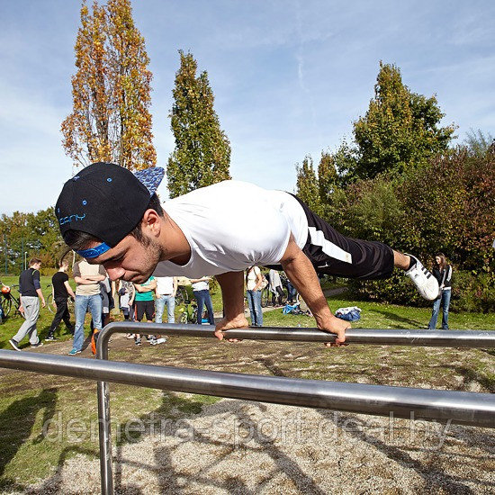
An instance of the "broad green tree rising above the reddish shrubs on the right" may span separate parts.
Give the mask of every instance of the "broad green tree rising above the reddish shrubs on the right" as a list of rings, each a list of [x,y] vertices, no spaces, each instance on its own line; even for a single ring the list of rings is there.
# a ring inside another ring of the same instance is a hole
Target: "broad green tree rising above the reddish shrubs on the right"
[[[352,182],[426,164],[453,138],[454,125],[439,125],[444,116],[435,96],[412,93],[399,67],[381,62],[374,98],[354,123],[354,143],[338,150],[339,171]]]

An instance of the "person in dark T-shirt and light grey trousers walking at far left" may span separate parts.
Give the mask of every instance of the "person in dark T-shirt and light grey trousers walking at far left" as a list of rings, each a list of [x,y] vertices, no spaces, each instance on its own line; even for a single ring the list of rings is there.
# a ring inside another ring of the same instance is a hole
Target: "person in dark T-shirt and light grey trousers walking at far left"
[[[36,330],[36,322],[40,316],[40,300],[45,307],[45,298],[41,293],[40,285],[40,267],[41,260],[33,257],[29,262],[29,268],[24,270],[19,275],[19,293],[21,294],[21,307],[24,312],[23,325],[17,331],[13,338],[9,340],[9,344],[14,347],[16,351],[20,351],[19,343],[26,335],[29,335],[29,341],[31,347],[40,347],[43,345],[38,338],[38,332]],[[21,311],[21,308],[19,308]]]

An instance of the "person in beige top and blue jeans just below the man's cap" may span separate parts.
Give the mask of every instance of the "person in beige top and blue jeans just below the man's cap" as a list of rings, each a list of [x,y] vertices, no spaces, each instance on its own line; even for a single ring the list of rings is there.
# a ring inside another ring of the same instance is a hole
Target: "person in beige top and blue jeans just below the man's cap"
[[[90,265],[85,259],[78,261],[72,274],[76,281],[76,327],[74,329],[74,342],[69,356],[79,354],[83,350],[85,340],[85,313],[89,309],[93,318],[94,333],[96,336],[102,329],[102,296],[100,284],[106,278],[106,272],[102,265]]]

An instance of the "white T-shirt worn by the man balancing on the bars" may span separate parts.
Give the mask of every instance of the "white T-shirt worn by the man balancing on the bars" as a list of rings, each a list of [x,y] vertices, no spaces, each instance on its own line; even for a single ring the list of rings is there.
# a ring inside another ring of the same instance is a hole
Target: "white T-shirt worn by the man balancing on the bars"
[[[163,204],[191,247],[184,265],[158,263],[155,276],[201,278],[240,272],[252,265],[277,265],[291,233],[299,247],[308,238],[308,220],[289,193],[255,184],[223,181]]]

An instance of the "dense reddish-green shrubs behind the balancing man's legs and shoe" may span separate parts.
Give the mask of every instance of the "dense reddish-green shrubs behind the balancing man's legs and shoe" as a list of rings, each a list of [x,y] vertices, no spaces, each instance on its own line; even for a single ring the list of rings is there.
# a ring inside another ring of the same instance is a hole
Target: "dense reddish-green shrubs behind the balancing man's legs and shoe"
[[[410,176],[359,181],[333,194],[328,219],[355,238],[413,253],[427,266],[443,251],[455,266],[455,311],[495,311],[495,155],[458,148]],[[429,305],[398,271],[383,281],[353,281],[355,297]]]

